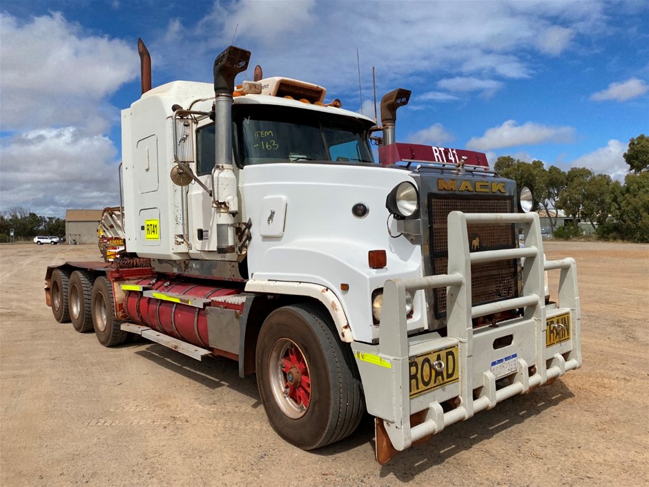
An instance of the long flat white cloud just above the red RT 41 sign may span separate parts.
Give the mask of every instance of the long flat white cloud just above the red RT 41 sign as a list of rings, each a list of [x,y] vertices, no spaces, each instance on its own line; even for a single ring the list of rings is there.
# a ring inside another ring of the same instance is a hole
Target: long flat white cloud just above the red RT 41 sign
[[[551,127],[534,122],[516,125],[515,120],[507,120],[501,126],[487,129],[482,137],[473,137],[467,142],[467,149],[485,151],[548,142],[570,142],[573,139],[574,128],[572,127]]]

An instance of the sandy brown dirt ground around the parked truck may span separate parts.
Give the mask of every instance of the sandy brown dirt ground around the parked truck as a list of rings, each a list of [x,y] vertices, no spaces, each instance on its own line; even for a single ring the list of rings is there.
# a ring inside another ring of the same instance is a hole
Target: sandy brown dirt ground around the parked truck
[[[304,452],[271,430],[235,363],[148,342],[107,349],[57,323],[46,266],[97,247],[2,245],[0,485],[648,485],[649,245],[546,242],[545,253],[577,260],[583,367],[380,466],[369,418]]]

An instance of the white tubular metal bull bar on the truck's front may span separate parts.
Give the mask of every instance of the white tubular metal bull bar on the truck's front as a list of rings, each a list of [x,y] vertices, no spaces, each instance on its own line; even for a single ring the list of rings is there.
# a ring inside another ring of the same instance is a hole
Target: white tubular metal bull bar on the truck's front
[[[523,226],[523,247],[469,252],[467,224],[502,223]],[[521,296],[472,306],[471,264],[512,258],[524,258]],[[546,305],[544,271],[553,270],[561,271],[559,302]],[[429,332],[409,337],[405,293],[440,287],[447,288],[447,336]],[[497,327],[472,327],[472,318],[519,308],[524,309],[523,316],[498,323]],[[565,313],[570,314],[570,339],[546,346],[547,319]],[[494,408],[500,401],[525,394],[580,367],[580,321],[575,261],[573,258],[545,261],[536,213],[452,211],[448,216],[447,274],[387,280],[378,344],[351,344],[365,389],[367,410],[376,417],[377,455],[379,426],[387,432],[392,448],[405,450],[445,426],[469,419],[476,412]],[[503,337],[511,338],[510,345],[496,347],[498,339]],[[458,347],[458,381],[411,397],[409,358],[454,346]],[[515,372],[505,377],[494,375],[490,364],[510,352],[517,357]],[[413,421],[412,415],[416,413],[418,419]]]

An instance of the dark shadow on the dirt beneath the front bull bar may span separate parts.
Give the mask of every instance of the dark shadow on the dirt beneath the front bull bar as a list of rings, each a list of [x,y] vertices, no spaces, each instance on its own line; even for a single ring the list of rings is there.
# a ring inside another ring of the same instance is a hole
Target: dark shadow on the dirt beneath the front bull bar
[[[401,452],[388,464],[380,467],[380,477],[394,475],[400,481],[411,481],[429,468],[443,464],[460,452],[476,448],[481,442],[492,439],[498,433],[529,421],[555,408],[574,394],[561,380],[552,385],[538,388],[530,394],[514,396],[496,405],[496,408],[478,412],[468,421],[448,426],[438,435],[431,437],[423,445],[414,446]],[[317,455],[336,455],[363,443],[374,450],[374,418],[366,417],[351,437],[316,451]]]

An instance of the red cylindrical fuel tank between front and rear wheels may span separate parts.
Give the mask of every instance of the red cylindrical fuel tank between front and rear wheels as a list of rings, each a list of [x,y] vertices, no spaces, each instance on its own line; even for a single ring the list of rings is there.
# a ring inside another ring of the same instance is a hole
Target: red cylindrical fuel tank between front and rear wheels
[[[137,284],[144,286],[144,289],[152,289],[154,292],[172,293],[184,298],[209,299],[240,294],[239,289],[173,280],[159,280],[151,285],[151,278],[147,278]],[[149,298],[139,291],[126,292],[124,302],[126,314],[133,323],[148,326],[197,347],[209,348],[207,315],[204,308]]]

